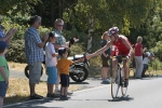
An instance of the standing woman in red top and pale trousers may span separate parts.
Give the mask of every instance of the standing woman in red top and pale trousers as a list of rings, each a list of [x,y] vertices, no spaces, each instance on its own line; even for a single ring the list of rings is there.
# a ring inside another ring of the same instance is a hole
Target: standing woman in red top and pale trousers
[[[137,38],[137,43],[135,44],[135,63],[136,63],[136,71],[135,78],[140,79],[141,71],[143,71],[143,38]]]

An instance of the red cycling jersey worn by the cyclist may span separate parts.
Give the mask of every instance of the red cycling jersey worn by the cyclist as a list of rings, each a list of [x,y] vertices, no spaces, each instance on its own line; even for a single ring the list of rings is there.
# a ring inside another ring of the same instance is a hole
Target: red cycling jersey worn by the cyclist
[[[113,42],[113,45],[116,46],[116,55],[129,55],[130,50],[125,46],[125,44],[123,44],[122,39],[125,39],[130,45],[132,46],[131,42],[129,41],[129,39],[124,36],[119,36],[118,41]]]

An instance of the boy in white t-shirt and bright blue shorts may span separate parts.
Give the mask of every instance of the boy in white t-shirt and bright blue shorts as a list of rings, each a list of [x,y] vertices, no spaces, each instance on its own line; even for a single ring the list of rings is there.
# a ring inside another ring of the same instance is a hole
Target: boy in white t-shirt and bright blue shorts
[[[54,31],[49,33],[49,42],[45,45],[45,66],[48,72],[48,94],[46,97],[55,97],[53,93],[54,84],[57,82],[57,58],[58,55],[55,52],[53,43],[56,41],[56,35]]]

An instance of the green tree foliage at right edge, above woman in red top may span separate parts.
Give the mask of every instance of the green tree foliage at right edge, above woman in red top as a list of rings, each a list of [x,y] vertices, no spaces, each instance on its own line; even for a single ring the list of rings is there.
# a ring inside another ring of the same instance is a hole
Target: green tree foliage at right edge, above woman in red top
[[[138,36],[143,37],[143,44],[148,49],[154,48],[162,39],[162,1],[153,0],[149,14],[139,28],[131,28],[131,39],[134,41]],[[135,41],[134,41],[135,42]]]

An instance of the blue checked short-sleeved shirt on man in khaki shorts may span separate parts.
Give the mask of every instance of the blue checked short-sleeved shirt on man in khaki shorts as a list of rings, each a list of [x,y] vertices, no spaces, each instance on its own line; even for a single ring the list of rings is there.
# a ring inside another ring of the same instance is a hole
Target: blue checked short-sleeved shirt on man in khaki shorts
[[[43,62],[43,49],[38,46],[41,43],[41,39],[36,28],[30,27],[25,32],[25,55],[29,65],[36,62]]]

